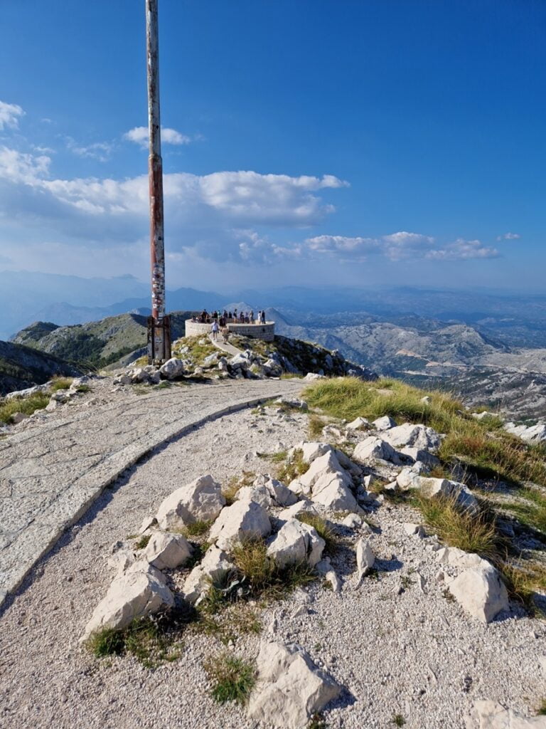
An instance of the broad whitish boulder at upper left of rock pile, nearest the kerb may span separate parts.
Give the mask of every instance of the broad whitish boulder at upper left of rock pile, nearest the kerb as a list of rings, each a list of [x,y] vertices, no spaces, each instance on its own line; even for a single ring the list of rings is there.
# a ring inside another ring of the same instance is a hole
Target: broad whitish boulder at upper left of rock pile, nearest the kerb
[[[181,528],[196,521],[213,521],[226,504],[219,483],[201,476],[167,496],[157,510],[162,529]]]

